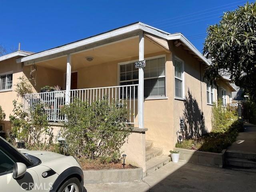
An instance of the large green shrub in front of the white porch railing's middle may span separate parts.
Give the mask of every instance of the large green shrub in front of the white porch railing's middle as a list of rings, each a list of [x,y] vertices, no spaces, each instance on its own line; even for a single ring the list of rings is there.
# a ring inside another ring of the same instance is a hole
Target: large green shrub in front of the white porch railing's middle
[[[108,98],[97,100],[91,105],[75,99],[64,106],[67,122],[62,136],[68,143],[68,153],[89,159],[100,158],[102,162],[120,160],[120,148],[130,131],[123,129],[127,116],[126,106],[118,107]]]

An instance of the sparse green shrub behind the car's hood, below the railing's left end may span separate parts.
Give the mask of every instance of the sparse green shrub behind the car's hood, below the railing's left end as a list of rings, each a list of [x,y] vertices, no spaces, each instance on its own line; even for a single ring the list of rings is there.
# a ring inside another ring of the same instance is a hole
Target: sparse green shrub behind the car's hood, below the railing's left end
[[[10,115],[11,130],[8,140],[15,144],[24,141],[27,149],[46,150],[53,140],[52,129],[48,126],[47,114],[42,104],[36,104],[29,114],[24,112],[23,105],[13,101],[13,115]]]

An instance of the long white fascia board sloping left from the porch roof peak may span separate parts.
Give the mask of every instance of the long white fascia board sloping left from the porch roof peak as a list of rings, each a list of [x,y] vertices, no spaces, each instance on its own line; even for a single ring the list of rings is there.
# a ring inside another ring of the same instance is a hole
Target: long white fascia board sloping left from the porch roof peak
[[[65,54],[69,54],[69,53],[72,53],[72,52],[69,52],[70,50],[74,50],[76,48],[79,48],[79,47],[82,47],[82,46],[85,46],[85,45],[88,45],[88,44],[99,42],[101,40],[106,40],[108,38],[113,38],[113,37],[116,37],[116,36],[119,36],[119,35],[124,35],[124,34],[130,33],[130,32],[134,32],[136,30],[139,30],[139,24],[138,23],[133,24],[131,26],[126,26],[124,28],[119,28],[119,29],[116,29],[116,30],[111,31],[111,32],[100,34],[98,36],[87,38],[85,40],[81,40],[81,41],[74,42],[74,43],[71,43],[71,44],[67,44],[67,45],[64,45],[64,46],[61,46],[61,47],[58,47],[58,48],[46,50],[46,51],[43,51],[43,52],[40,52],[40,53],[37,53],[37,54],[33,54],[33,55],[30,55],[30,56],[27,56],[27,57],[24,57],[24,58],[20,58],[20,59],[17,59],[16,62],[17,63],[26,62],[26,61],[29,61],[29,60],[35,60],[35,59],[45,57],[45,56],[49,56],[49,55],[53,55],[53,54],[56,54],[56,56],[61,56],[62,54],[59,54],[61,52],[65,52]]]

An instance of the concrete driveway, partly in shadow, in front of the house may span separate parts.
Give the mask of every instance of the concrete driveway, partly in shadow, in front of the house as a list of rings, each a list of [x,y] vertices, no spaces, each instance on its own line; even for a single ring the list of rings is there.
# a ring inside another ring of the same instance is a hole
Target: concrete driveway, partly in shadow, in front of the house
[[[87,192],[255,192],[256,174],[170,162],[144,178],[119,184],[86,184]]]

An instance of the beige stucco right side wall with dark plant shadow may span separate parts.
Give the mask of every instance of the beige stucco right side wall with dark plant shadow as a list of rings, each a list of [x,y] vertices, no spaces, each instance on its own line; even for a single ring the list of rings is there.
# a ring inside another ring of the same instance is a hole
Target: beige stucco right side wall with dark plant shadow
[[[173,145],[177,142],[176,132],[180,130],[180,118],[184,118],[185,121],[185,136],[192,138],[202,133],[209,132],[211,130],[211,105],[207,104],[206,100],[206,83],[203,82],[203,73],[205,66],[200,64],[196,58],[188,54],[188,51],[182,49],[182,46],[172,47],[173,57],[177,56],[184,61],[184,87],[185,87],[185,99],[174,99],[174,137],[172,138]],[[200,74],[201,65],[201,74]],[[174,68],[174,65],[172,65]],[[174,69],[173,69],[174,70]],[[174,85],[174,73],[172,73],[173,85]],[[172,88],[175,93],[175,88]],[[214,89],[214,99],[217,99],[217,91]]]

